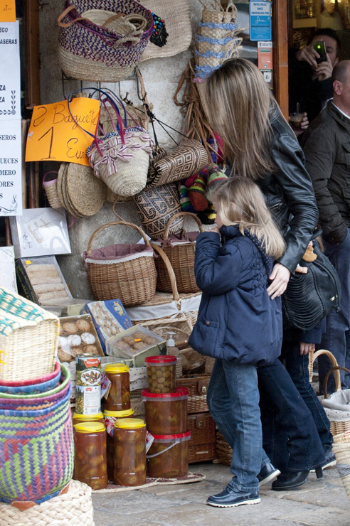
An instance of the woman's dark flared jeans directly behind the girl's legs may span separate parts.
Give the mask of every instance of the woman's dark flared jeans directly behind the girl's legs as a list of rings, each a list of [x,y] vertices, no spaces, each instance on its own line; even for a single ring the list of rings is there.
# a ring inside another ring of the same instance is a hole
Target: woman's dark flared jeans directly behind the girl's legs
[[[279,359],[258,367],[263,447],[282,473],[307,471],[324,463],[312,414]]]

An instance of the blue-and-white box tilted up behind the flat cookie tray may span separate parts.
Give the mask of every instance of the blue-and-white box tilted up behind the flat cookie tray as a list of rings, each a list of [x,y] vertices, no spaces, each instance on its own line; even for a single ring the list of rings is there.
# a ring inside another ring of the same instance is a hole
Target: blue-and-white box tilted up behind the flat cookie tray
[[[120,299],[91,301],[85,304],[80,312],[90,314],[105,353],[108,338],[133,326]]]

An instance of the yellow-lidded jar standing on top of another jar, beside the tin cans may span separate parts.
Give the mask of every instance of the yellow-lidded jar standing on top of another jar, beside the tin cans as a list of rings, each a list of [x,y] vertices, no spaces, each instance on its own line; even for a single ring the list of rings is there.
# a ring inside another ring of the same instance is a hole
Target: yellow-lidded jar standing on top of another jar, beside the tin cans
[[[111,363],[105,368],[105,373],[111,382],[105,409],[107,411],[130,409],[129,367],[124,363]]]

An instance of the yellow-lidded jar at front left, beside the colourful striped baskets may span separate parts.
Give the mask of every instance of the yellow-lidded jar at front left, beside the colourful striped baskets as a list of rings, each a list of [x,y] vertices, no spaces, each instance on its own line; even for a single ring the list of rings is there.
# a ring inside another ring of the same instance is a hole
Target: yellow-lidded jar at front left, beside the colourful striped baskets
[[[106,429],[101,422],[74,426],[74,478],[93,490],[107,488]]]

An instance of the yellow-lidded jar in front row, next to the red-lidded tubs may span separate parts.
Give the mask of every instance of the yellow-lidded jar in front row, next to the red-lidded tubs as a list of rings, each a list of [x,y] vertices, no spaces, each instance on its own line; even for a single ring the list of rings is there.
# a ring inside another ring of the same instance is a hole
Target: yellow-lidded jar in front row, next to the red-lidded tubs
[[[118,485],[146,483],[146,424],[138,418],[115,421],[113,481]]]

